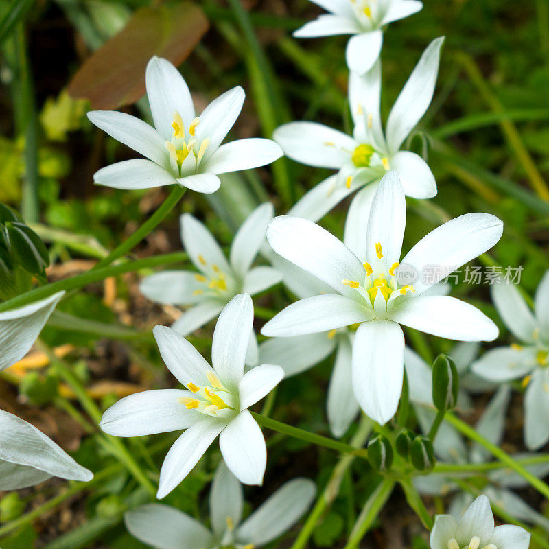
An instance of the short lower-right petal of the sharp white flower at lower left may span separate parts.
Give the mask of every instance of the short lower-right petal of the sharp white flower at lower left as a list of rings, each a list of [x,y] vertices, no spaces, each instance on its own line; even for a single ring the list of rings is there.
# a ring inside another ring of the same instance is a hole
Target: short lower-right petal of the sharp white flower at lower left
[[[242,484],[262,484],[267,465],[263,433],[252,414],[242,410],[219,437],[222,456]]]

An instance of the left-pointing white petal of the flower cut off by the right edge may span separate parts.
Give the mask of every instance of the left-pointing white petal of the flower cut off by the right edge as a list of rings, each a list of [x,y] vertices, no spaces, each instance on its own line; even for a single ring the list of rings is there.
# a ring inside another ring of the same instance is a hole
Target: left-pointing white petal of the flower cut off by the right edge
[[[509,382],[526,375],[536,365],[535,347],[497,347],[471,365],[471,370],[493,382]]]

